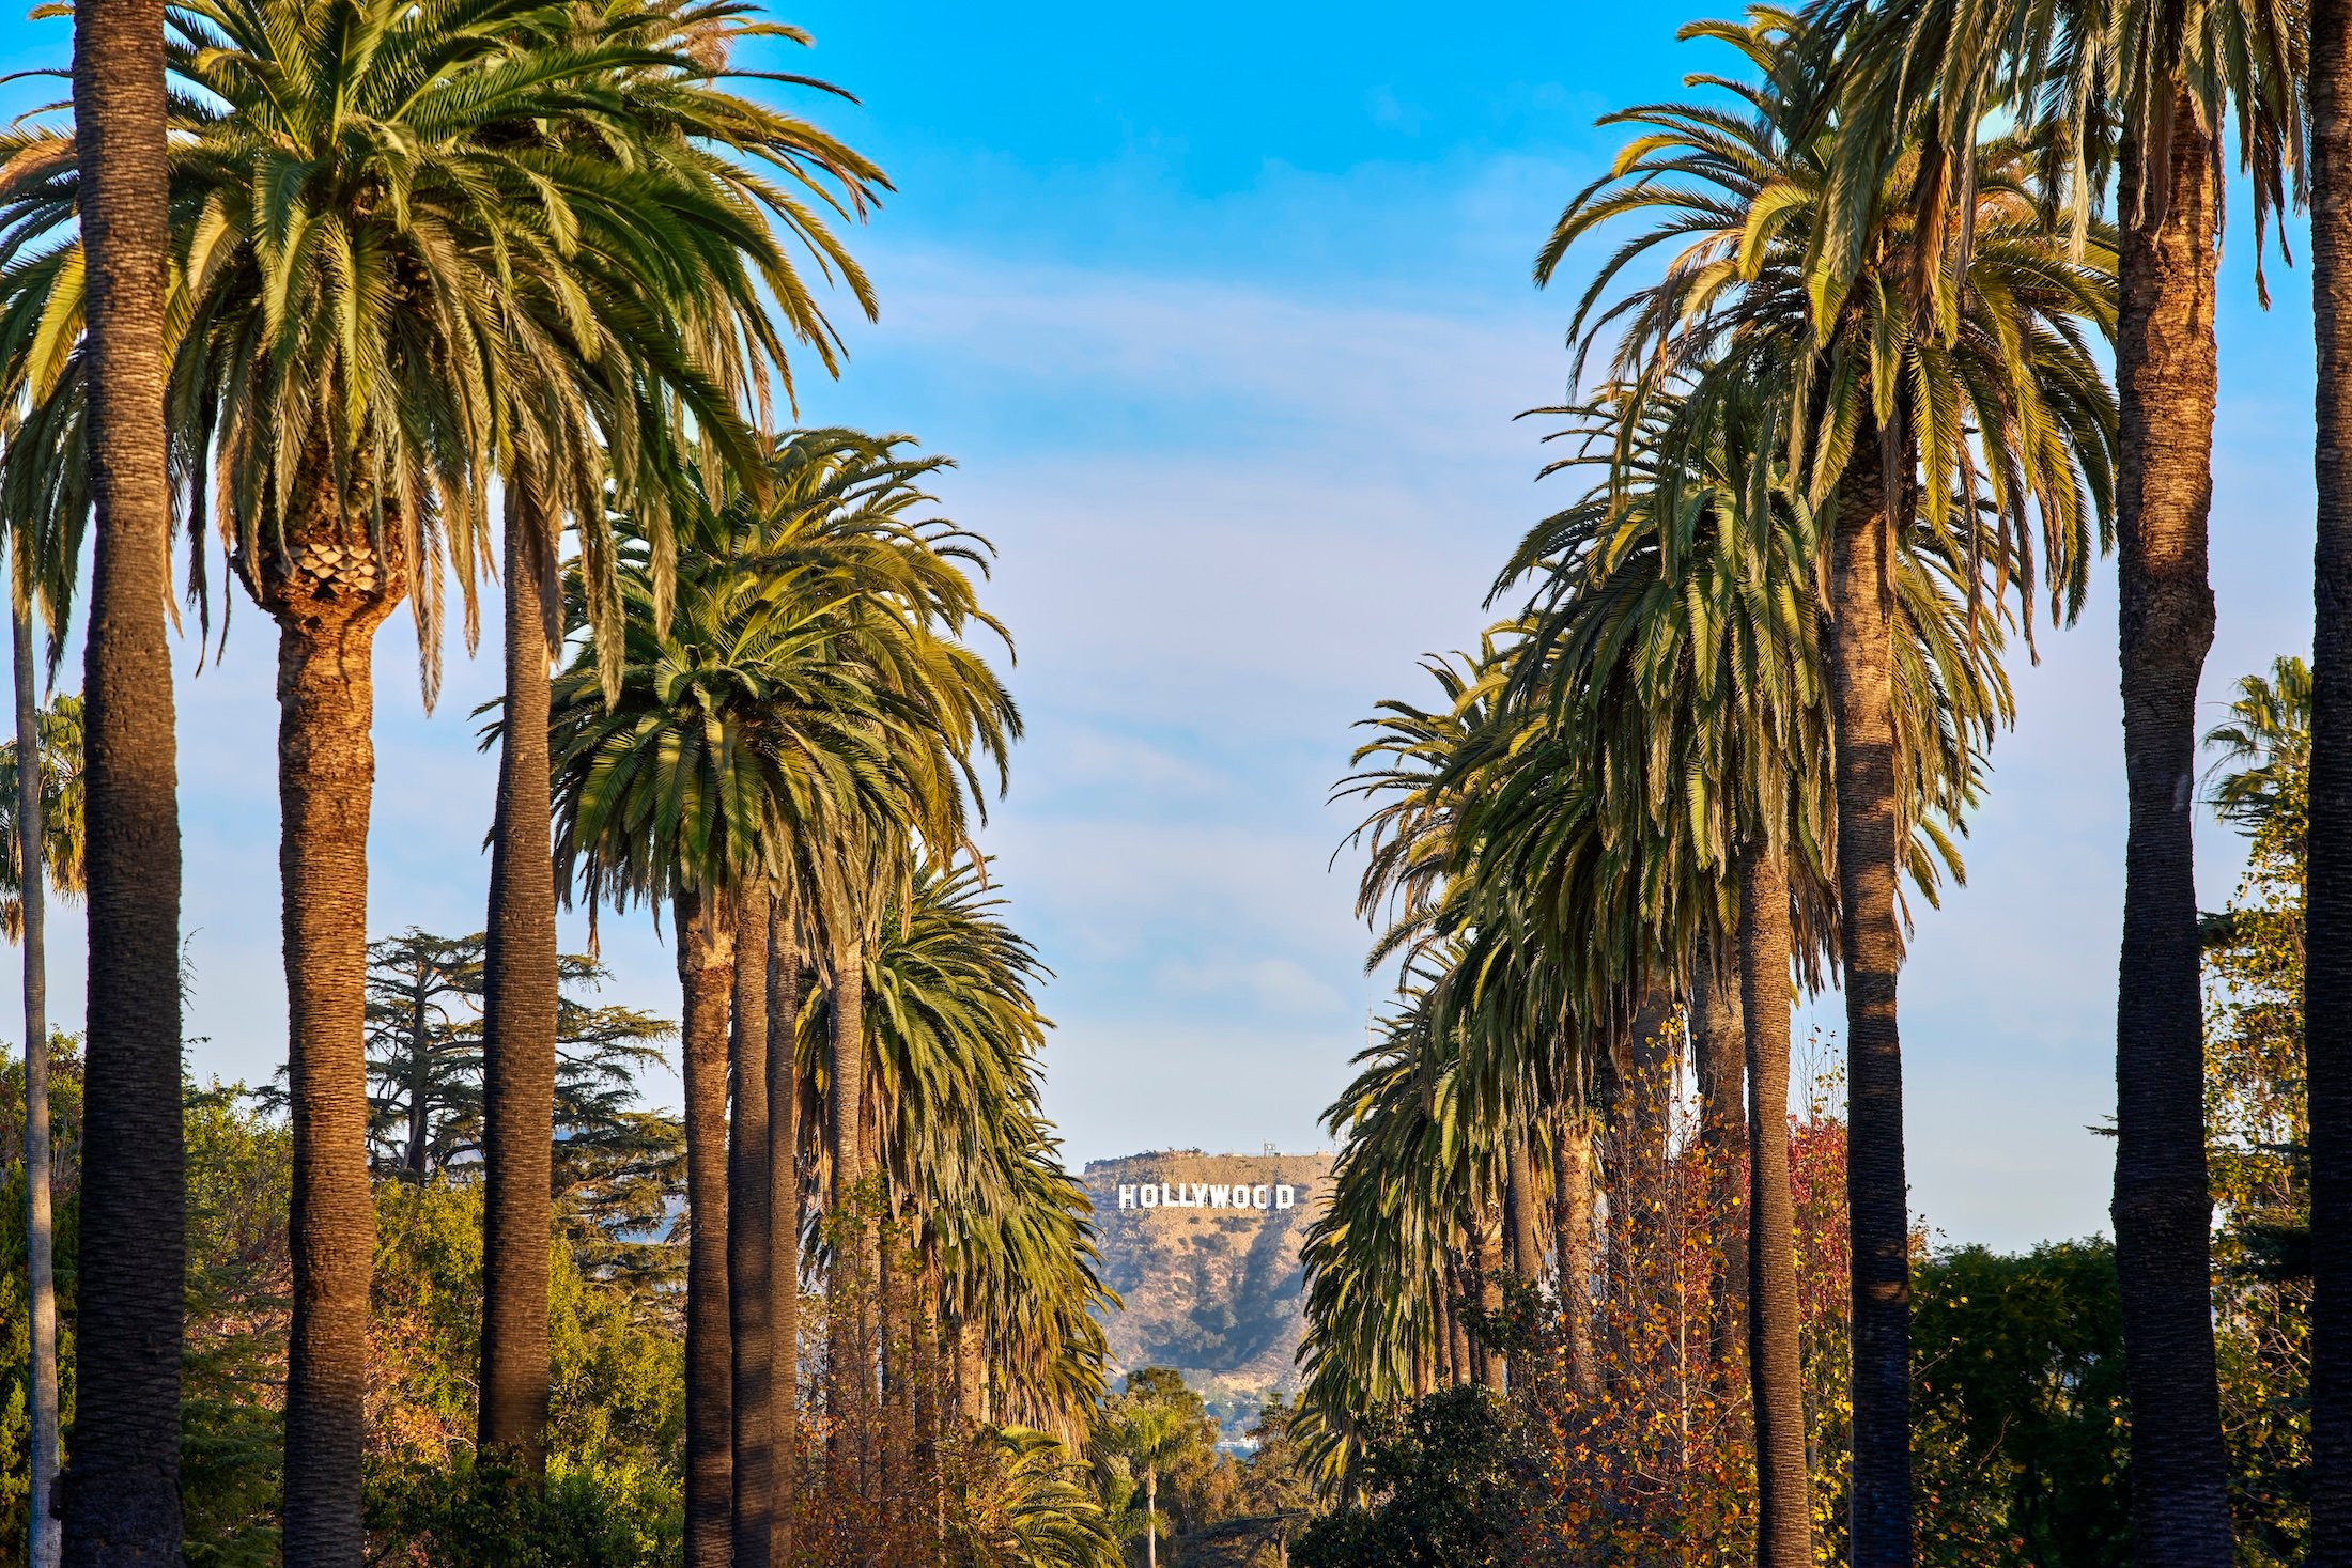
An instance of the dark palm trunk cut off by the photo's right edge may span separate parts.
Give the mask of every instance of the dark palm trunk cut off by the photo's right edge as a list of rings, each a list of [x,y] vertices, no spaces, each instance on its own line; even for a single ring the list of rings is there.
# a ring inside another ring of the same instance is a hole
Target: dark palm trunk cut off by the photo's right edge
[[[2312,1161],[2310,1568],[2352,1568],[2352,2],[2312,5],[2319,550],[2303,912]]]

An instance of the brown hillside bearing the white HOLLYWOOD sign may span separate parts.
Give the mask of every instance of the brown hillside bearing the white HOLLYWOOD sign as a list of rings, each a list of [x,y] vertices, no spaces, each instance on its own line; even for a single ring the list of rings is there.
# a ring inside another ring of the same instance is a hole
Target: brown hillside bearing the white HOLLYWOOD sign
[[[1120,1368],[1174,1366],[1211,1396],[1291,1389],[1305,1328],[1298,1246],[1329,1175],[1329,1154],[1169,1150],[1089,1164],[1103,1281],[1127,1302],[1105,1324]]]

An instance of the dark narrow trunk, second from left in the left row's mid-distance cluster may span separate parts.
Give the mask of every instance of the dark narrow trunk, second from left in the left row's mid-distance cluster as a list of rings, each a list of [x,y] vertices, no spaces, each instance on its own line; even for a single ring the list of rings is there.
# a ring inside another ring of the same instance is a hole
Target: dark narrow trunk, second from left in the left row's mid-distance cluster
[[[727,1314],[734,1342],[734,1568],[764,1568],[776,1530],[776,1298],[769,1190],[764,886],[736,896],[734,1121],[727,1138]]]

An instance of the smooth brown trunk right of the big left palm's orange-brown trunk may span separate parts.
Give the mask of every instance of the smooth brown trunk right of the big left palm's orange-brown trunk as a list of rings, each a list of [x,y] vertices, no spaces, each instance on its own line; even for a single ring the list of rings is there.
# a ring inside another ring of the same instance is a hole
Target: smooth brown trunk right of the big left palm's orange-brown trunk
[[[548,1465],[555,1234],[555,860],[548,661],[562,644],[555,541],[529,475],[506,487],[506,724],[482,961],[482,1453]]]

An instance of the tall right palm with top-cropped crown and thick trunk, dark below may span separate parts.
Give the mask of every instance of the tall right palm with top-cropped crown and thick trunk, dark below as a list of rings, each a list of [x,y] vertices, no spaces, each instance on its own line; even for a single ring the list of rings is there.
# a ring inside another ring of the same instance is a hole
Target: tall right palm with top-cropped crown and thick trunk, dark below
[[[2336,24],[2326,7],[2310,19],[2312,59],[2321,61],[2321,40]],[[1891,150],[1922,129],[1931,158],[1919,165],[1917,188],[1938,219],[1929,226],[1943,230],[1952,254],[1964,256],[1971,244],[1962,221],[1966,202],[1955,200],[1964,183],[1955,174],[1969,169],[1969,148],[1994,110],[2044,146],[2053,207],[2072,212],[2077,233],[2110,176],[2117,193],[2117,654],[2131,825],[2117,983],[2114,1237],[2133,1410],[2131,1509],[2143,1552],[2220,1568],[2232,1544],[2211,1326],[2213,1201],[2204,1168],[2192,844],[2194,705],[2213,642],[2206,515],[2218,386],[2220,136],[2225,122],[2237,125],[2237,153],[2253,193],[2260,292],[2267,223],[2284,209],[2291,186],[2300,195],[2303,181],[2300,14],[2270,0],[1889,0],[1870,7],[1839,0],[1823,12],[1820,40],[1844,47],[1828,78],[1842,150],[1830,202],[1837,221],[1813,259],[1820,301],[1839,299],[1860,275],[1865,223],[1858,214],[1877,200]],[[2321,162],[2328,132],[2317,103],[2326,92],[2321,66],[2312,73]],[[2314,287],[2326,299],[2336,266],[2326,221],[2314,223],[2312,242]],[[1919,268],[1915,284],[1929,287],[1915,287],[1915,301],[1936,299],[1947,275]],[[2326,374],[2328,322],[2321,303],[2324,505],[2336,461],[2326,435],[2336,407]],[[2326,550],[2321,543],[2324,562]],[[2321,588],[2321,604],[2326,592]],[[2326,924],[2321,912],[2319,926]]]

